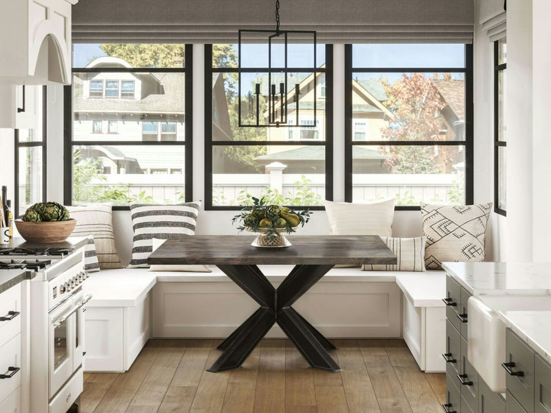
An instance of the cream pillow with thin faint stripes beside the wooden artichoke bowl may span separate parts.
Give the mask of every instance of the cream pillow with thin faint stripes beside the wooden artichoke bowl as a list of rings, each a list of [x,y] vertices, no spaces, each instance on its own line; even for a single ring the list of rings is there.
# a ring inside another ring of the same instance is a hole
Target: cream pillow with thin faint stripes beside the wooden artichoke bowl
[[[110,204],[92,204],[85,207],[67,207],[71,218],[76,220],[74,237],[94,237],[99,268],[123,268],[115,248],[112,208]]]

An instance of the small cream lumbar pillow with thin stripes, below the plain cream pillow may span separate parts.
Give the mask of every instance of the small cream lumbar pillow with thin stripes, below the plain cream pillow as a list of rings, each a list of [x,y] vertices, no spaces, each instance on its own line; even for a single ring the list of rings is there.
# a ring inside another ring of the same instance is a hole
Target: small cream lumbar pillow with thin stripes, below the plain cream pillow
[[[362,265],[362,271],[426,271],[426,237],[391,238],[382,237],[383,242],[397,257],[394,265]]]

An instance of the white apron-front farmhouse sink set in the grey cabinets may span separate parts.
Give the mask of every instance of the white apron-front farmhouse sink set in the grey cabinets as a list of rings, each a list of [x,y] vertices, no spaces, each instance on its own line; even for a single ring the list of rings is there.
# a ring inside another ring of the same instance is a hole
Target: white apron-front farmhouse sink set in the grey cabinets
[[[494,392],[505,392],[506,325],[499,313],[550,311],[551,296],[481,295],[468,299],[468,360]]]

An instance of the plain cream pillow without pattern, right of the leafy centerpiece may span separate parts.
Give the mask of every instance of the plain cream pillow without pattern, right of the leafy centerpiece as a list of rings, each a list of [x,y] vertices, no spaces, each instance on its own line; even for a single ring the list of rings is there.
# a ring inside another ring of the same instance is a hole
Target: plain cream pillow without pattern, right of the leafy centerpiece
[[[325,201],[331,235],[392,236],[395,198],[373,204]]]

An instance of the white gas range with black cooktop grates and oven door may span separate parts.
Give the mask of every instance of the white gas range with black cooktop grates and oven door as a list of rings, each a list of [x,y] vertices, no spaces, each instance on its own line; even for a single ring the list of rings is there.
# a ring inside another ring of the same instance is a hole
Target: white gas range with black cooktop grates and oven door
[[[0,268],[35,275],[30,282],[30,413],[78,412],[83,311],[91,298],[82,292],[89,277],[84,273],[83,242],[68,248],[2,248]]]

